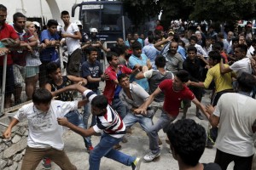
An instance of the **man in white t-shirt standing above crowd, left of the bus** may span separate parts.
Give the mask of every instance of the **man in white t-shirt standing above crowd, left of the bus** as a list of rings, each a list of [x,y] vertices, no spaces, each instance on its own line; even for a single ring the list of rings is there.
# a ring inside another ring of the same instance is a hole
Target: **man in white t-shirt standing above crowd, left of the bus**
[[[82,36],[79,27],[69,21],[70,16],[67,11],[61,12],[61,20],[65,25],[61,28],[61,35],[62,38],[65,38],[68,52],[67,75],[80,77],[79,66],[82,58],[80,39]]]

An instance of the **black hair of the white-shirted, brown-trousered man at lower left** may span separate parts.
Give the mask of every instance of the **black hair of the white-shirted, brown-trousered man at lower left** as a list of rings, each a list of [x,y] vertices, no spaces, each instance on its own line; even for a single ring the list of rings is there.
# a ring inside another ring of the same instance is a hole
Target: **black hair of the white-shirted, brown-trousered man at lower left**
[[[32,94],[32,102],[34,104],[49,104],[52,99],[52,95],[46,88],[38,88]]]

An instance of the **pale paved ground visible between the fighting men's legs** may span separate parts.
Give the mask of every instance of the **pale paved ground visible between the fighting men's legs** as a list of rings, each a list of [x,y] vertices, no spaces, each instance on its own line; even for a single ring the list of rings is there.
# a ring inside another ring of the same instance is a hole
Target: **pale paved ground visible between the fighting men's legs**
[[[209,103],[208,95],[204,98],[204,103]],[[188,118],[194,119],[196,122],[200,123],[203,127],[208,126],[207,120],[199,120],[197,117],[195,117],[195,105],[192,105],[192,107],[188,111]],[[180,115],[177,117],[177,119],[180,119],[183,114],[180,113]],[[160,113],[158,112],[156,116],[154,117],[154,122],[157,121],[158,117],[160,116]],[[166,134],[163,133],[163,131],[160,131],[160,139],[163,141],[163,144],[161,145],[161,156],[158,160],[153,162],[142,162],[141,169],[154,169],[154,170],[176,170],[178,169],[177,161],[175,161],[172,157],[172,154],[169,152],[169,145],[166,144]],[[84,142],[83,139],[76,133],[73,133],[71,130],[67,130],[67,132],[64,135],[64,141],[65,141],[65,150],[67,152],[67,155],[69,156],[70,160],[73,162],[74,165],[78,167],[79,170],[84,170],[89,168],[88,158],[89,154],[86,153],[84,149]],[[99,141],[99,137],[93,136],[92,142],[94,145],[96,145]],[[132,127],[132,134],[128,137],[128,143],[123,144],[122,149],[120,151],[131,155],[131,156],[138,156],[143,157],[147,151],[148,151],[148,137],[146,133],[143,132],[141,127],[136,124]],[[214,161],[216,149],[206,149],[203,156],[201,157],[201,162],[212,162]],[[233,165],[230,164],[229,170],[232,169]],[[42,165],[40,164],[37,168],[37,170],[42,169]],[[54,170],[60,170],[60,167],[57,167],[53,164],[52,169]],[[130,170],[131,167],[126,167],[119,162],[109,160],[108,158],[102,158],[101,162],[101,170]]]

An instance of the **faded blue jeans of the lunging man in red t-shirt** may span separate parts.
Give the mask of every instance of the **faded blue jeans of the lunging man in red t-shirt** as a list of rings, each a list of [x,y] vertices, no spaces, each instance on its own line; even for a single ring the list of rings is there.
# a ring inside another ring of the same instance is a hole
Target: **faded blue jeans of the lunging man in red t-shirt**
[[[149,128],[148,138],[149,138],[149,147],[153,154],[158,154],[160,152],[160,147],[158,145],[158,132],[160,129],[166,133],[167,127],[170,123],[175,120],[176,117],[168,116],[164,111],[161,113],[161,116],[152,127]]]

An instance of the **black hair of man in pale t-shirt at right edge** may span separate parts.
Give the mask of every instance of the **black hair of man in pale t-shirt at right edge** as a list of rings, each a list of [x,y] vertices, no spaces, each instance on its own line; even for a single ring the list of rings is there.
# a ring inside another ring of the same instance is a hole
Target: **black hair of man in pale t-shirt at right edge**
[[[243,92],[251,92],[256,85],[256,79],[252,74],[241,72],[237,78],[238,88]]]

